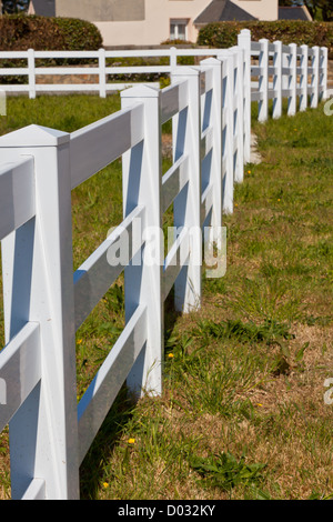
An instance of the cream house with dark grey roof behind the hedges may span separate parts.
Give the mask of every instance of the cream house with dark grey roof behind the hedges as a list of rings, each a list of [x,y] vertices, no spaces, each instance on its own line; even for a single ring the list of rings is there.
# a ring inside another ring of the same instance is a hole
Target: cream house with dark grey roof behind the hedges
[[[222,20],[278,20],[278,0],[31,0],[29,14],[81,18],[104,47],[195,42],[202,26]]]

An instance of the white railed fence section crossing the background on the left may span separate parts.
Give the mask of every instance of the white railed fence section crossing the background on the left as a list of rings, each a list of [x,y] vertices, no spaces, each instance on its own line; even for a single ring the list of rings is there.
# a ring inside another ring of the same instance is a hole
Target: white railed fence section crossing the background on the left
[[[29,49],[28,51],[0,51],[0,88],[3,88],[7,92],[28,92],[30,98],[36,98],[39,92],[97,92],[100,97],[105,97],[110,91],[122,90],[128,87],[132,87],[133,82],[127,81],[121,82],[117,80],[117,76],[120,74],[171,74],[173,69],[178,66],[179,58],[182,57],[194,57],[200,59],[208,56],[216,56],[218,49],[160,49],[160,50],[130,50],[130,51],[107,51],[100,49],[98,51],[34,51]],[[117,58],[129,59],[154,59],[168,61],[168,63],[159,66],[117,66],[108,64],[110,60]],[[24,63],[20,67],[8,67],[8,61],[12,63],[16,60],[23,61]],[[54,60],[65,61],[84,61],[83,66],[58,66],[54,67],[52,63]],[[43,63],[43,66],[40,64]],[[50,66],[48,64],[50,63]],[[87,63],[88,62],[88,63]],[[89,63],[90,62],[90,63]],[[46,63],[48,64],[46,67]],[[4,64],[4,66],[3,66]],[[80,80],[80,77],[91,76],[93,79],[90,83],[39,83],[42,77],[57,77],[57,76],[72,76]],[[111,77],[111,81],[107,81],[108,77]],[[26,79],[27,83],[2,83],[1,78],[6,77],[20,77]],[[114,79],[113,79],[114,77]],[[113,81],[112,81],[113,79]],[[1,86],[2,83],[2,86]],[[138,83],[138,82],[135,82]],[[155,87],[159,83],[153,82]]]

